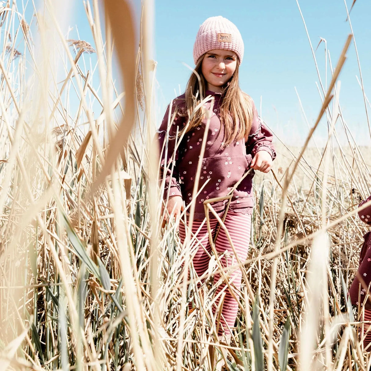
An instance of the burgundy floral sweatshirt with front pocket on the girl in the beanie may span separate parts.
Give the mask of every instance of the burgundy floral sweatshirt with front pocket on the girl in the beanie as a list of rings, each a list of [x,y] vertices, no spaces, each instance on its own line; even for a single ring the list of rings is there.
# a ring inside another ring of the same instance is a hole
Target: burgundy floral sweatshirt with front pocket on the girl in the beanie
[[[204,216],[204,200],[226,196],[229,193],[230,189],[242,178],[243,174],[249,170],[250,163],[256,152],[267,151],[272,156],[272,159],[276,157],[275,148],[272,144],[272,132],[269,131],[258,116],[254,103],[252,127],[247,141],[244,142],[242,139],[224,146],[224,127],[221,125],[219,115],[223,97],[221,93],[206,91],[206,96],[209,95],[214,96],[215,102],[206,139],[207,142],[198,190],[205,181],[209,180],[209,182],[204,186],[196,199],[195,219],[203,219],[201,216]],[[207,102],[204,108],[209,109],[210,105],[211,102]],[[178,111],[184,112],[185,94],[178,96],[173,101],[172,114],[174,113],[175,106],[178,106]],[[167,193],[169,197],[181,196],[187,206],[192,201],[194,177],[196,175],[207,119],[203,119],[198,127],[188,131],[184,135],[175,153],[175,164],[173,174],[171,174],[171,161],[173,160],[175,145],[174,137],[176,136],[177,128],[180,131],[187,124],[187,116],[177,115],[174,121],[170,123],[168,130],[170,139],[168,141],[167,154],[165,155],[164,141],[167,137],[168,115],[169,106],[158,130],[158,140],[160,150],[162,150],[160,178],[166,178],[164,198],[167,197]],[[165,166],[165,163],[167,166]],[[168,167],[165,174],[164,167]],[[238,211],[237,209],[253,207],[254,201],[251,192],[253,176],[254,173],[251,171],[236,190],[234,190],[230,209]],[[219,201],[213,203],[212,206],[215,211],[221,211],[224,209],[226,203],[227,200]]]

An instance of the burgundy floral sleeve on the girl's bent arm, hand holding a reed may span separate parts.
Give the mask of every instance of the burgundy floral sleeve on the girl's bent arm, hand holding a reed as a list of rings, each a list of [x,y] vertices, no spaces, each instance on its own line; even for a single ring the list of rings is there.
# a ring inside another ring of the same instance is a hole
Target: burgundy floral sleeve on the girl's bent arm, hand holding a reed
[[[256,152],[267,151],[274,160],[276,158],[276,151],[272,144],[273,134],[259,117],[254,102],[252,104],[253,122],[246,141],[246,153],[250,153],[254,157]]]

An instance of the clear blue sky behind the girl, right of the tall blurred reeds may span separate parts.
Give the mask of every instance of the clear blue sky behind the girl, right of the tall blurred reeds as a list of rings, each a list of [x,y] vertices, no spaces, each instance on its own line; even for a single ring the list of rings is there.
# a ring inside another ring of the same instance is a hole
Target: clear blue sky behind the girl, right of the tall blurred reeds
[[[352,0],[347,0],[350,9]],[[320,37],[326,39],[333,68],[350,33],[347,12],[342,0],[299,0],[303,17],[317,47]],[[371,89],[371,1],[357,0],[350,19],[361,62],[365,92]],[[210,16],[222,15],[239,28],[244,40],[244,60],[240,68],[240,86],[254,99],[270,127],[285,141],[305,138],[308,126],[303,118],[295,87],[301,98],[310,125],[313,125],[321,99],[316,87],[312,52],[296,1],[170,1],[155,2],[155,59],[158,82],[158,109],[183,92],[190,71],[182,64],[194,66],[193,43],[199,25]],[[325,83],[325,45],[315,55]],[[327,69],[330,73],[329,66]],[[368,144],[370,137],[354,44],[340,75],[340,104],[349,127],[359,140]],[[329,80],[328,80],[329,83]],[[371,109],[370,109],[371,111]],[[371,113],[371,112],[370,112]],[[339,125],[339,123],[337,124]],[[340,125],[339,125],[340,126]],[[324,137],[327,124],[321,123],[318,136]]]

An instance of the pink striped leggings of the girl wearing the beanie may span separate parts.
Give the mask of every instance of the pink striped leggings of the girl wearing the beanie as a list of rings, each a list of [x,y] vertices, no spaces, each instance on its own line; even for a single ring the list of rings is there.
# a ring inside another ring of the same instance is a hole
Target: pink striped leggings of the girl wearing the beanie
[[[192,226],[192,237],[197,233],[198,228],[202,224],[202,220],[194,220]],[[215,236],[216,229],[218,227],[218,222],[216,219],[210,219],[210,227]],[[224,221],[224,225],[227,227],[229,232],[230,238],[232,239],[234,249],[239,257],[239,259],[244,262],[247,257],[247,252],[249,250],[249,243],[250,243],[250,232],[251,232],[251,215],[242,214],[242,213],[234,213],[233,211],[229,211],[226,216],[226,220]],[[185,240],[185,227],[182,223],[179,225],[179,235],[181,242],[183,243]],[[209,234],[207,232],[207,225],[206,222],[201,227],[201,229],[196,234],[196,238],[198,239],[198,248],[196,255],[193,257],[193,266],[194,270],[196,271],[198,276],[202,276],[209,267],[210,256],[213,256],[213,252],[211,250],[210,242],[209,242]],[[229,240],[227,238],[226,232],[223,228],[220,228],[218,233],[215,248],[218,252],[219,257],[224,253],[224,255],[220,258],[221,265],[224,267],[232,266],[237,264],[236,256],[234,256],[233,249],[230,246]],[[225,253],[227,250],[227,253]],[[226,274],[229,278],[230,286],[233,288],[234,295],[237,299],[240,296],[240,288],[241,288],[241,278],[242,273],[240,269],[234,270],[230,274]],[[196,277],[197,279],[198,277]],[[216,274],[214,276],[214,284],[218,282],[220,279],[220,275]],[[222,335],[223,331],[226,335],[230,335],[230,331],[234,326],[234,322],[236,321],[237,310],[238,310],[238,303],[231,295],[228,288],[226,288],[226,283],[222,283],[218,286],[215,295],[218,294],[223,290],[225,291],[225,297],[221,308],[221,316],[220,316],[220,325],[218,330],[218,335]],[[220,298],[220,296],[219,296]],[[216,300],[216,306],[213,307],[213,313],[215,313],[217,305],[219,304],[219,298]]]

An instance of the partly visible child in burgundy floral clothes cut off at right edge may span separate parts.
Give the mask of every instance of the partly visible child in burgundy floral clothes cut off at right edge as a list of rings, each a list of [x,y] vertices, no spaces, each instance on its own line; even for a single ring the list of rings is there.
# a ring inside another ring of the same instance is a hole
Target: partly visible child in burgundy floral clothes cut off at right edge
[[[371,200],[369,196],[366,200],[362,201],[359,206],[362,206],[367,201]],[[365,207],[365,209],[358,211],[359,218],[371,225],[371,205]],[[368,292],[368,286],[371,282],[371,232],[367,232],[364,235],[364,243],[359,254],[359,268],[357,275],[355,276],[352,285],[349,289],[349,296],[353,305],[357,307],[364,306],[365,321],[371,321],[371,289]],[[367,298],[367,299],[366,299]],[[366,299],[366,300],[365,300]],[[363,329],[363,335],[365,335],[369,325],[365,324]],[[363,336],[362,336],[363,337]],[[371,329],[367,332],[366,337],[363,341],[363,347],[368,352],[371,351],[371,346],[367,348],[371,342]]]

